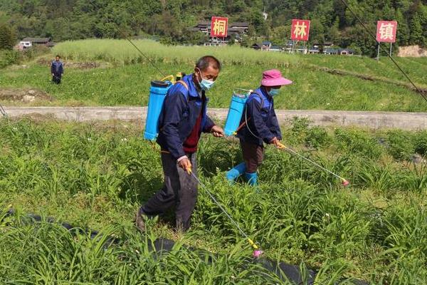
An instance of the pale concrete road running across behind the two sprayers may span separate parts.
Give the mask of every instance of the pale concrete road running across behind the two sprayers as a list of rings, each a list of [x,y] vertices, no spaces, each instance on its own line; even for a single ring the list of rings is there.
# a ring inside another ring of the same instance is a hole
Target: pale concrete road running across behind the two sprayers
[[[60,120],[78,122],[92,120],[137,120],[147,115],[146,107],[4,107],[11,118],[22,116],[50,116]],[[209,109],[208,113],[225,120],[227,109]],[[326,110],[276,110],[280,124],[293,117],[308,118],[313,125],[356,125],[367,128],[427,129],[427,113],[362,112]]]

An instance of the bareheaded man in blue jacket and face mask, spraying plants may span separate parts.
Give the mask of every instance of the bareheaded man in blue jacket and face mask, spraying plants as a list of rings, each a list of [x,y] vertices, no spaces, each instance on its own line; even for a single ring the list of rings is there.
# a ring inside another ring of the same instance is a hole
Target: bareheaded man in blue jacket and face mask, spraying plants
[[[202,132],[223,136],[223,129],[206,114],[208,99],[205,92],[216,81],[221,63],[214,56],[197,61],[194,73],[184,76],[172,86],[164,99],[159,117],[157,143],[161,148],[164,185],[154,197],[139,208],[136,224],[144,232],[143,216],[163,214],[175,207],[176,229],[189,229],[197,197],[196,151]]]

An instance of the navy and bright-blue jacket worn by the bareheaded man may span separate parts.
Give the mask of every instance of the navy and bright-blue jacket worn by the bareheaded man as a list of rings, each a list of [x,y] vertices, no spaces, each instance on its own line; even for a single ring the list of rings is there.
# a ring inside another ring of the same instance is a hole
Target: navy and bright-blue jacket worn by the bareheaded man
[[[169,88],[159,117],[157,143],[162,150],[169,151],[175,159],[185,155],[183,143],[196,125],[200,112],[202,112],[201,132],[208,133],[215,125],[206,114],[208,99],[204,91],[199,95],[192,77],[193,74],[190,74],[182,78],[188,90],[181,83]]]

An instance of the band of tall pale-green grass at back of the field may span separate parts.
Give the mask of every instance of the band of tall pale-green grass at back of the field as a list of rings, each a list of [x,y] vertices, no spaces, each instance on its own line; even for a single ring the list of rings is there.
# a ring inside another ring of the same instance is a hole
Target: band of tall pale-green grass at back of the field
[[[288,66],[297,61],[283,53],[260,53],[249,48],[238,46],[202,47],[202,46],[164,46],[151,40],[132,41],[144,53],[142,56],[137,49],[126,40],[83,40],[65,41],[53,48],[54,53],[60,53],[65,58],[75,61],[110,61],[118,64],[147,63],[147,56],[154,63],[188,63],[194,64],[201,56],[207,54],[221,58],[226,65],[239,64],[242,66],[269,65]]]

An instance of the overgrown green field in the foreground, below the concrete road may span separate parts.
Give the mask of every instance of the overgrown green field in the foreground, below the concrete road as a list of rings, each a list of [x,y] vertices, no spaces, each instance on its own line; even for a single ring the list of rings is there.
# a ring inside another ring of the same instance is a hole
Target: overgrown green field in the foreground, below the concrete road
[[[11,204],[18,217],[53,216],[123,241],[104,249],[105,238],[6,218],[0,222],[0,283],[286,284],[243,266],[251,249],[203,189],[188,233],[177,236],[168,215],[139,235],[135,211],[162,185],[158,150],[142,141],[142,126],[0,120],[0,133],[0,217]],[[320,270],[316,284],[352,277],[423,284],[427,167],[412,160],[427,153],[426,131],[371,133],[295,120],[283,133],[285,142],[351,186],[344,189],[331,175],[270,147],[259,192],[229,186],[224,171],[241,161],[238,144],[204,136],[199,150],[201,180],[266,257]],[[147,244],[156,237],[216,255],[206,264],[176,247],[154,258]]]

